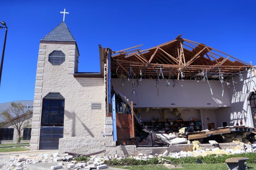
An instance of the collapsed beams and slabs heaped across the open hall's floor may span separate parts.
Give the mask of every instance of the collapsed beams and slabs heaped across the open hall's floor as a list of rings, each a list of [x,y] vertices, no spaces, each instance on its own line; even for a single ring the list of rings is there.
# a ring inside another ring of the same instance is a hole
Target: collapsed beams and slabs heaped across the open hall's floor
[[[210,140],[216,140],[219,143],[256,143],[256,132],[252,127],[219,127],[217,129],[206,129],[198,132],[186,131],[186,128],[187,127],[181,128],[179,133],[173,132],[170,134],[161,133],[161,131],[151,131],[153,142],[155,138],[158,138],[168,145],[190,144],[191,142],[193,143],[194,140],[199,140],[203,143],[208,143]]]

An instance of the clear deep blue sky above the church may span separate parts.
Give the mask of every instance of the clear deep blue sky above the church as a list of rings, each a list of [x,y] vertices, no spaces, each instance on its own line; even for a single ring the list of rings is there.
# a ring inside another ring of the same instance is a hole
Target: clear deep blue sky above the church
[[[0,103],[33,100],[40,39],[62,22],[64,8],[80,72],[99,71],[99,44],[146,49],[179,34],[256,65],[255,0],[1,0],[0,7],[8,26]]]

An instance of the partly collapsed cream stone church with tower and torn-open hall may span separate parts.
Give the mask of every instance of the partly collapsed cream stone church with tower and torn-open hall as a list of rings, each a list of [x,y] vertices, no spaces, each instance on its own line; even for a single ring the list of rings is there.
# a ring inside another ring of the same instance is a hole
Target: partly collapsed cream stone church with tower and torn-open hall
[[[99,46],[100,72],[81,73],[78,46],[64,22],[41,39],[30,149],[132,155],[139,149],[127,140],[139,142],[144,126],[165,133],[256,126],[251,65],[181,36],[137,47]]]

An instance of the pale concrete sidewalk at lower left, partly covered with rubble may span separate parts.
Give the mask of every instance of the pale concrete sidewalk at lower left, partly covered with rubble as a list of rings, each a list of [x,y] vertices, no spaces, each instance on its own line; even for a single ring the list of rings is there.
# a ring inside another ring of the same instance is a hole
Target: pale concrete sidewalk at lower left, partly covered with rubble
[[[19,162],[12,162],[9,161],[10,157],[23,157],[25,159],[37,157],[38,155],[51,155],[51,154],[56,154],[58,153],[58,150],[38,150],[38,151],[17,151],[17,152],[3,152],[0,153],[0,163],[2,164],[15,164],[18,165]],[[58,163],[62,162],[63,167],[67,167],[67,164],[70,162],[68,161],[47,161],[47,162],[38,162],[35,164],[24,164],[22,167],[27,168],[29,170],[50,170],[51,166],[56,166]],[[0,167],[1,169],[1,167]],[[72,170],[73,168],[61,168],[59,170]],[[106,168],[104,170],[124,170],[124,169],[119,169],[119,168]]]

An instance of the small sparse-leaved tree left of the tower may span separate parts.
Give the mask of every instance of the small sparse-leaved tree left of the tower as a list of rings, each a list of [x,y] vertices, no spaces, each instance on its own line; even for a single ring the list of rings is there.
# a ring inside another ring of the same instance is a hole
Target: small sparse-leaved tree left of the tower
[[[30,110],[25,110],[25,107],[20,102],[11,102],[10,109],[1,113],[4,123],[10,123],[17,130],[17,144],[22,140],[22,130],[31,127],[29,121],[30,112]]]

